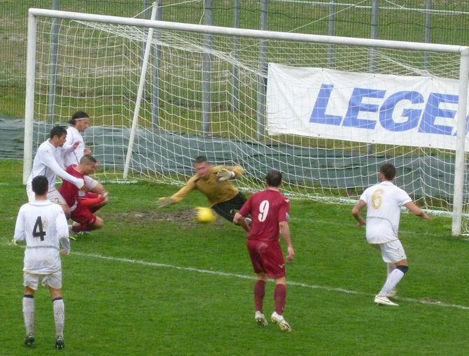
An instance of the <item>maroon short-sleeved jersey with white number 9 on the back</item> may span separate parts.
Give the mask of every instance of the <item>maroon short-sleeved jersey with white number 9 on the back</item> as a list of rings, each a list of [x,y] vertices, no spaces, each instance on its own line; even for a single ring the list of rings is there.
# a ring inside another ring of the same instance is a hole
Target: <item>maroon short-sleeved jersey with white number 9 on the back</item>
[[[288,222],[290,201],[278,190],[268,188],[255,193],[242,206],[239,213],[251,214],[251,229],[248,240],[278,241],[279,222]]]

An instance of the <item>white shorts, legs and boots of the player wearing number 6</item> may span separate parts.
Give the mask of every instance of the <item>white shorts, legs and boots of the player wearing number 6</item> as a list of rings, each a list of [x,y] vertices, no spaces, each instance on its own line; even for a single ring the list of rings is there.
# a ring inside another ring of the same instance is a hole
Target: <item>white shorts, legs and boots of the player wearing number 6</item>
[[[395,290],[396,285],[400,282],[402,277],[407,272],[408,263],[402,243],[399,240],[382,243],[380,245],[381,256],[386,264],[395,264],[395,269],[388,274],[383,287],[374,298],[377,304],[384,304],[388,306],[397,306],[398,304],[389,301],[388,294]]]

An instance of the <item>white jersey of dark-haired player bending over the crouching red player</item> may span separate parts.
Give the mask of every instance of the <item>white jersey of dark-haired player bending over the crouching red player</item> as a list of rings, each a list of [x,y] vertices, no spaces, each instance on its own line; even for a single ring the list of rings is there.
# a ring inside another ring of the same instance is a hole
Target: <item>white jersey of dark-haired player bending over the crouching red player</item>
[[[49,192],[55,190],[55,180],[57,176],[62,179],[66,179],[69,182],[76,185],[78,188],[83,187],[83,179],[73,177],[71,174],[60,166],[59,162],[62,162],[62,149],[52,145],[49,140],[44,141],[39,146],[36,156],[34,156],[33,167],[31,174],[29,175],[27,185],[31,185],[31,182],[36,176],[45,176],[49,182]]]

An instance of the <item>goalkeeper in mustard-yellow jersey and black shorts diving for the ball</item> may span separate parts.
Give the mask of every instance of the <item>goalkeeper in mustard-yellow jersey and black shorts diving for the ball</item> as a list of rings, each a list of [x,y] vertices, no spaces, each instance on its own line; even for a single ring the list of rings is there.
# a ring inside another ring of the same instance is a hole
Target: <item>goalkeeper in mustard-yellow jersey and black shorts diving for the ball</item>
[[[212,166],[207,157],[200,156],[194,160],[195,175],[188,180],[178,192],[171,197],[158,199],[158,206],[165,208],[179,203],[193,190],[200,190],[211,208],[222,218],[232,222],[235,213],[246,202],[246,198],[230,180],[239,178],[244,169],[241,166]]]

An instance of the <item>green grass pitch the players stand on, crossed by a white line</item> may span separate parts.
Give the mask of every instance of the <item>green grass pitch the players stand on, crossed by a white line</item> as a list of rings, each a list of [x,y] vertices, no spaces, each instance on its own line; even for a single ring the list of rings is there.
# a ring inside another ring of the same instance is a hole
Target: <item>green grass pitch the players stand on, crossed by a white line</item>
[[[0,161],[0,355],[51,355],[52,305],[36,292],[36,343],[23,346],[22,248],[8,245],[26,201],[21,163]],[[258,327],[253,272],[241,228],[193,221],[205,206],[194,192],[156,208],[177,188],[106,185],[104,229],[72,241],[63,257],[66,308],[64,355],[464,355],[469,302],[468,241],[451,222],[402,214],[400,238],[409,272],[398,308],[373,297],[386,269],[356,229],[351,206],[293,200],[296,259],[287,266],[284,311],[293,332]],[[273,308],[267,283],[265,314]]]

